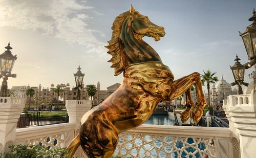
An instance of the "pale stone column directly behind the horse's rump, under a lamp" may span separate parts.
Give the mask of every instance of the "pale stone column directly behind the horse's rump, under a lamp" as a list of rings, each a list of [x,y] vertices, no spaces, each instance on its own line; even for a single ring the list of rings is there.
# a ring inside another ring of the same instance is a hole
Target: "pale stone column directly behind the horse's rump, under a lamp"
[[[69,122],[75,123],[76,125],[75,136],[79,133],[82,116],[86,114],[86,112],[89,111],[91,107],[92,102],[90,100],[66,100],[66,108],[69,115]],[[75,156],[86,157],[83,156],[83,151],[81,147],[77,148]]]

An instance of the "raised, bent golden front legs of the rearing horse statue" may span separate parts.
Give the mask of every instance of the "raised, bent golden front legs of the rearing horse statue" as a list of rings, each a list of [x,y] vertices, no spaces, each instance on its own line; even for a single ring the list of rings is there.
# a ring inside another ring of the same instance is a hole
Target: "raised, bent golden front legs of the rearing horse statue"
[[[196,102],[196,110],[193,111],[194,103],[191,97],[191,90],[190,87],[195,84],[196,91],[198,94],[198,99]],[[203,108],[206,105],[206,101],[204,99],[202,84],[201,84],[201,77],[199,73],[193,73],[188,76],[182,77],[173,83],[175,87],[175,92],[170,94],[170,100],[174,100],[180,97],[182,94],[186,93],[186,109],[181,112],[181,120],[182,122],[186,122],[192,114],[192,118],[194,123],[198,123],[200,118],[203,115]]]

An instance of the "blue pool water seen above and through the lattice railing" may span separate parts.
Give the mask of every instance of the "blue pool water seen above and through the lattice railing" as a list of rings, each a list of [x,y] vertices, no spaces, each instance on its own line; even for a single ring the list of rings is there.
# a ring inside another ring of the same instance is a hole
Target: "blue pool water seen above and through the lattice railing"
[[[172,120],[172,119],[171,119],[169,116],[167,116],[167,115],[152,115],[152,116],[150,117],[150,119],[148,119],[144,124],[173,125],[174,123],[175,123],[175,120]],[[132,137],[132,136],[131,136],[130,134],[127,134],[127,136],[126,136],[125,139],[129,140],[129,139],[131,139],[131,137]],[[145,136],[145,139],[146,139],[147,141],[153,141],[150,136]],[[166,141],[166,142],[172,142],[172,139],[171,139],[170,137],[166,137],[166,140],[165,140],[165,141]],[[119,142],[122,143],[123,140],[122,140],[121,138],[119,138]],[[137,145],[141,145],[141,140],[136,140],[135,142],[136,142]],[[187,139],[187,143],[192,144],[192,143],[194,143],[194,141],[193,141],[193,139],[188,138],[188,139]],[[161,142],[160,140],[155,140],[155,145],[156,145],[157,147],[160,147],[161,144],[162,144],[162,142]],[[132,143],[127,143],[126,146],[131,148],[133,145],[132,145]],[[184,144],[183,144],[182,142],[180,142],[180,141],[176,142],[176,147],[177,147],[178,149],[181,149],[183,146],[184,146]],[[199,146],[199,148],[200,148],[201,150],[204,150],[204,149],[205,149],[205,144],[204,144],[204,143],[198,143],[198,146]],[[148,149],[152,148],[152,146],[151,146],[150,144],[145,144],[144,147],[145,147],[145,148],[148,148]],[[165,148],[167,151],[171,151],[171,150],[172,150],[172,147],[171,147],[171,146],[166,146],[166,147],[164,147],[164,148]],[[186,148],[186,150],[187,150],[187,152],[194,152],[194,151],[195,151],[195,149],[193,149],[193,148],[191,148],[191,147]],[[121,149],[121,152],[122,152],[122,153],[125,153],[124,149]],[[136,149],[133,149],[132,152],[135,153],[135,154],[137,153]],[[140,154],[141,154],[142,157],[145,156],[143,149],[140,151]],[[177,153],[177,152],[173,153],[172,156],[170,156],[169,154],[166,155],[164,152],[161,151],[161,152],[160,152],[160,155],[161,155],[161,157],[174,157],[174,158],[177,158],[177,157],[178,157],[178,153]],[[196,157],[200,157],[199,153],[197,153],[197,154],[195,154],[195,155],[196,155]],[[128,155],[127,155],[127,156],[128,156]],[[129,156],[130,156],[130,155],[129,155]],[[152,156],[153,156],[153,157],[156,157],[156,150],[155,150],[155,149],[152,151]],[[146,157],[146,156],[145,156],[145,157]],[[186,157],[185,152],[182,153],[181,157]],[[190,158],[190,157],[192,157],[192,156],[189,156],[189,158]]]

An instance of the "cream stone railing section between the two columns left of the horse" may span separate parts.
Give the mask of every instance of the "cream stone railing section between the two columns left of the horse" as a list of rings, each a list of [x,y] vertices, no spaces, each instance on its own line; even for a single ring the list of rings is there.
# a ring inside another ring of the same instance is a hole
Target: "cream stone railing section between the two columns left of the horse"
[[[64,148],[74,138],[75,124],[37,126],[16,129],[15,144],[42,144],[50,148]]]

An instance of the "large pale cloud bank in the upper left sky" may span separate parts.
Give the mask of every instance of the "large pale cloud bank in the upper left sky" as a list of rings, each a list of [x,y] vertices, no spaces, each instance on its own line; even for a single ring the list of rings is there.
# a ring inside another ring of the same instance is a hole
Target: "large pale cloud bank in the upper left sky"
[[[0,26],[32,31],[42,31],[70,43],[87,47],[90,53],[102,56],[105,43],[99,41],[90,29],[90,15],[81,13],[92,10],[85,1],[75,0],[4,0],[0,1]],[[106,53],[106,52],[104,52]]]

